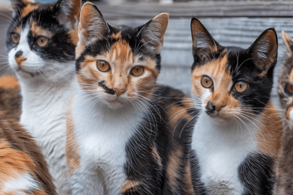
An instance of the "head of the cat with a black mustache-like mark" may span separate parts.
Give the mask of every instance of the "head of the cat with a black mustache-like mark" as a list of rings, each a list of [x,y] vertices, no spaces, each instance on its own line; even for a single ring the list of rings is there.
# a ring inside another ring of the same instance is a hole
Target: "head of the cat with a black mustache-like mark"
[[[111,108],[148,97],[161,68],[168,25],[161,13],[139,27],[108,24],[92,3],[81,9],[76,77],[81,88]]]

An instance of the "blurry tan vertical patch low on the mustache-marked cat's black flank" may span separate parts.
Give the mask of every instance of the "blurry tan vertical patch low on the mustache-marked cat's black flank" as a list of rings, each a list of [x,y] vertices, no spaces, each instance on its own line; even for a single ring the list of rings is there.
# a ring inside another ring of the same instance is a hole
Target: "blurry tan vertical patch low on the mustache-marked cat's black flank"
[[[167,181],[171,190],[174,190],[177,186],[177,178],[178,178],[178,168],[181,164],[181,158],[183,156],[183,151],[181,148],[173,150],[168,158],[167,163]]]

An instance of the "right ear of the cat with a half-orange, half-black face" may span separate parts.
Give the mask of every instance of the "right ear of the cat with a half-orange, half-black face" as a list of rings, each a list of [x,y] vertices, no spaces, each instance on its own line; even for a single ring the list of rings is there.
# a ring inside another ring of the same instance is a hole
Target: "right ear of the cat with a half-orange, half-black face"
[[[248,48],[255,65],[264,73],[276,65],[278,38],[274,28],[265,30]]]

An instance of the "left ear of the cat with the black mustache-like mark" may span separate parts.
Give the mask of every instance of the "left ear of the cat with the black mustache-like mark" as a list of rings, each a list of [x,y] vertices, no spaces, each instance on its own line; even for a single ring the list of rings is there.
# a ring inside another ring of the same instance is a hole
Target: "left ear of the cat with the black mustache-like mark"
[[[79,18],[79,42],[76,46],[76,57],[81,54],[87,42],[102,39],[103,34],[109,32],[109,30],[109,26],[99,9],[94,4],[86,2],[81,8]]]

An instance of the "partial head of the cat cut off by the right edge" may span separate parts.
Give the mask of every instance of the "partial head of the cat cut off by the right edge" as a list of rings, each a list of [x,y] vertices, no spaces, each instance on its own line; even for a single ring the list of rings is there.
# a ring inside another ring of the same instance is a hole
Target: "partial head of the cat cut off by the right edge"
[[[283,66],[278,80],[280,105],[285,110],[282,118],[285,124],[293,128],[293,39],[282,31],[286,48]]]

